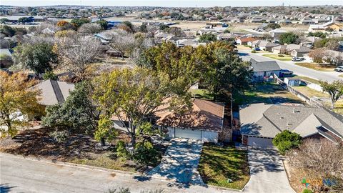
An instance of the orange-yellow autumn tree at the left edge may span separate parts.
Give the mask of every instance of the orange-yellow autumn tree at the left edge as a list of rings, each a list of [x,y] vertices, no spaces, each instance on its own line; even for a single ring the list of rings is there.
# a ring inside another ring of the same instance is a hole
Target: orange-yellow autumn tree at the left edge
[[[14,137],[18,129],[27,124],[27,115],[39,115],[43,112],[38,103],[40,92],[31,89],[36,81],[29,80],[26,74],[9,75],[0,71],[0,126],[1,131]],[[20,116],[23,115],[24,119]]]

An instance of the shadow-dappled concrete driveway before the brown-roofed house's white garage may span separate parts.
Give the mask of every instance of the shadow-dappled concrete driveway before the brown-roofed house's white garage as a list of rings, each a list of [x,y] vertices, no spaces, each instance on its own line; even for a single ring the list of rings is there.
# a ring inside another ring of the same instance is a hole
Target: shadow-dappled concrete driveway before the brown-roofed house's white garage
[[[204,184],[197,171],[202,144],[194,139],[172,139],[161,164],[152,169],[148,175],[184,184]]]

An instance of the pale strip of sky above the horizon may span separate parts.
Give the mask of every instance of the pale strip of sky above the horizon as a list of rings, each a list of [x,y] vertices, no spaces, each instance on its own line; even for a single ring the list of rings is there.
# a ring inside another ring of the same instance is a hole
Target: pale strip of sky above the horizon
[[[0,0],[1,5],[91,5],[91,6],[285,6],[343,5],[343,0]]]

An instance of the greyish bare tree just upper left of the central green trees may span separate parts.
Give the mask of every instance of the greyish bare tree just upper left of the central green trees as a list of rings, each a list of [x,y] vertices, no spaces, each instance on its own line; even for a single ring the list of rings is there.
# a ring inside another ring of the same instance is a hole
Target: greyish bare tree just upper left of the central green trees
[[[118,29],[108,32],[106,36],[111,38],[109,46],[111,46],[115,51],[118,51],[121,54],[121,59],[123,60],[125,54],[130,53],[135,46],[134,35],[127,31]]]

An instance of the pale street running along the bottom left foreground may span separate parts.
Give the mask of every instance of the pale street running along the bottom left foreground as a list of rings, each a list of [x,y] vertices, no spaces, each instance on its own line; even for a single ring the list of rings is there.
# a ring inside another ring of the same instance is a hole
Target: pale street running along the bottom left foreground
[[[164,189],[164,192],[236,192],[213,187],[182,187],[175,182],[108,172],[102,169],[73,167],[0,153],[0,192],[107,192],[128,187],[132,193]]]

